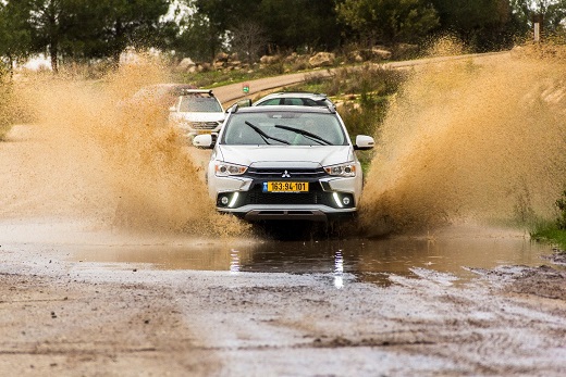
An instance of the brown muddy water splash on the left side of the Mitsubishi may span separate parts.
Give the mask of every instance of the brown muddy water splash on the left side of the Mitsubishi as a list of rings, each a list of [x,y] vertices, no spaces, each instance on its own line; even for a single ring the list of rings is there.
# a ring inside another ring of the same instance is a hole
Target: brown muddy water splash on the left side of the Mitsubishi
[[[158,66],[136,65],[91,83],[28,79],[37,121],[21,143],[16,216],[88,219],[122,230],[239,234],[245,227],[213,211],[204,172],[186,141],[155,103],[127,99],[144,85],[168,81]],[[17,130],[17,129],[15,129]],[[13,185],[12,185],[13,186]],[[35,198],[35,199],[34,199]]]

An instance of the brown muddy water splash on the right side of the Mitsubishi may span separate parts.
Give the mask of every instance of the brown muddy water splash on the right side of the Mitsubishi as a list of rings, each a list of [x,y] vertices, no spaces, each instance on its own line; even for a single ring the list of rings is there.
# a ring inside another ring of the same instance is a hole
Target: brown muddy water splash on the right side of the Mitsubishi
[[[566,65],[513,53],[414,72],[362,197],[371,235],[554,218],[566,185]]]

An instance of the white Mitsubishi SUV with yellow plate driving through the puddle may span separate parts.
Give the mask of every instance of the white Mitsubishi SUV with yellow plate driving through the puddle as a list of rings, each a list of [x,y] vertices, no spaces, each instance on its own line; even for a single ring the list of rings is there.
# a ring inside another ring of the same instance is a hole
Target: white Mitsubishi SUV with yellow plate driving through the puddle
[[[355,150],[373,148],[373,138],[353,144],[333,108],[234,106],[213,148],[207,169],[217,210],[246,221],[329,221],[353,215],[362,188]]]

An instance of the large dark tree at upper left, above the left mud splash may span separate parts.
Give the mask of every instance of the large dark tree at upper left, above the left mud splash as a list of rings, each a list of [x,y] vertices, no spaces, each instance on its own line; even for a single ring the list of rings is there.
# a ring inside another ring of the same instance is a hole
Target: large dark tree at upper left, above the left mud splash
[[[53,72],[60,59],[118,63],[126,47],[171,42],[175,25],[161,21],[168,10],[169,0],[28,0],[33,49],[48,51]]]

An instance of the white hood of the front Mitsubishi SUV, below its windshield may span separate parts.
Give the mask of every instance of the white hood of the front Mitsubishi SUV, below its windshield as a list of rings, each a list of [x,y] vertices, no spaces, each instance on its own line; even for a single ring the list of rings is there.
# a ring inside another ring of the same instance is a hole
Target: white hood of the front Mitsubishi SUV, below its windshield
[[[255,167],[318,167],[352,162],[350,146],[218,146],[217,158],[224,162]]]

